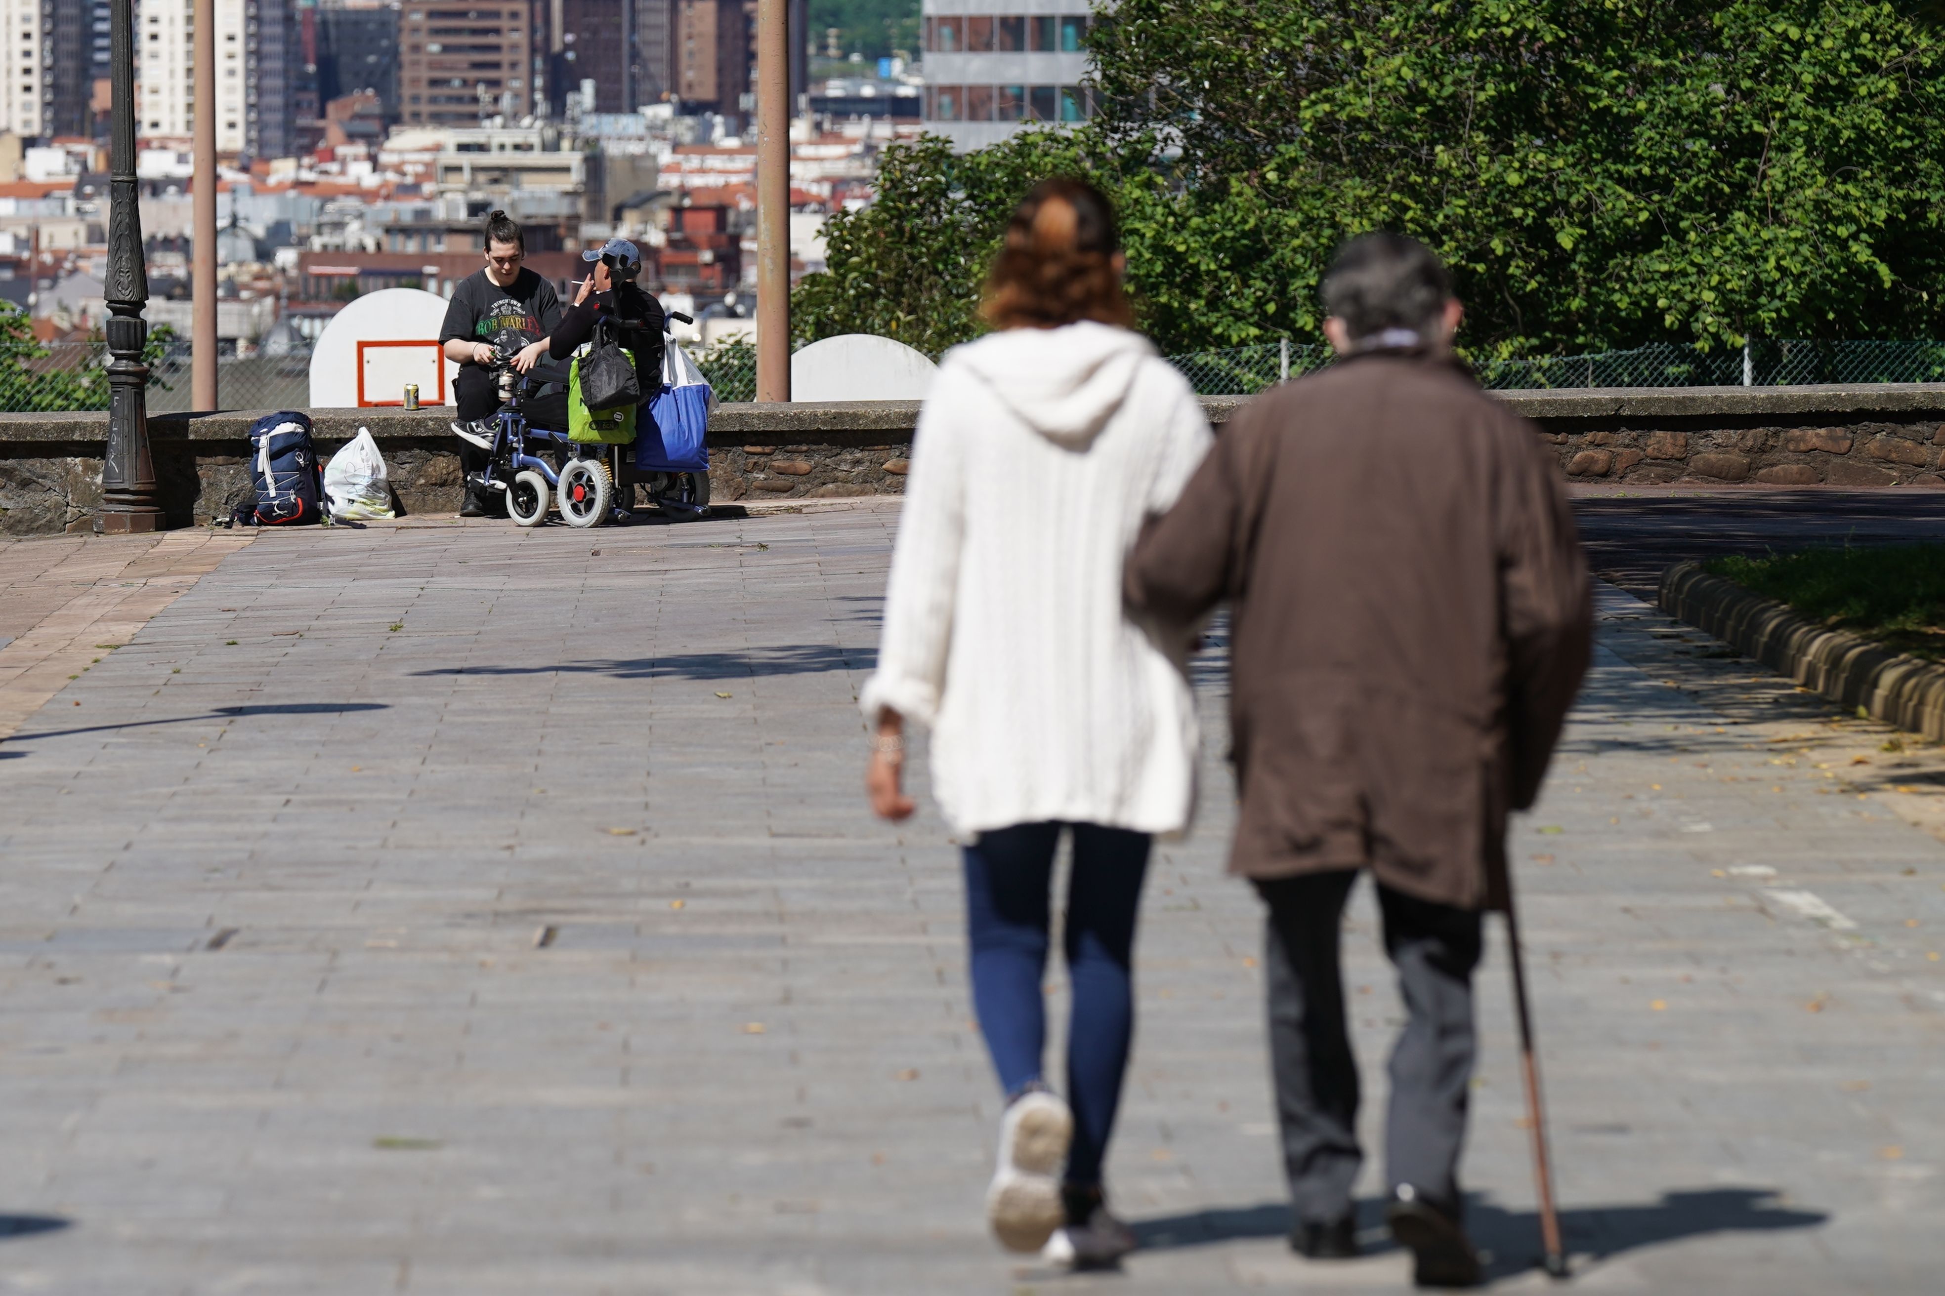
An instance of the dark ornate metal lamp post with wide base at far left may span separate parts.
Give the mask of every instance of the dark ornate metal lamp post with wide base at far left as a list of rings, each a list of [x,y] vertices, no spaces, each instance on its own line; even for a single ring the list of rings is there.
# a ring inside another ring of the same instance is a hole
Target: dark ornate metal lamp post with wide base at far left
[[[101,460],[103,532],[159,530],[156,460],[148,449],[148,270],[142,264],[142,208],[134,185],[134,0],[109,0],[109,445]]]

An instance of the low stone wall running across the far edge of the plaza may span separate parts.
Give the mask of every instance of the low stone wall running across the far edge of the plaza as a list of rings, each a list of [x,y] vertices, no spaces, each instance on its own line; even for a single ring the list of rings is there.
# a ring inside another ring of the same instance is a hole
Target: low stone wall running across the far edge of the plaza
[[[1945,385],[1690,387],[1496,392],[1533,418],[1560,470],[1587,484],[1945,486]],[[1206,396],[1221,424],[1243,398]],[[405,513],[451,513],[461,478],[445,410],[313,410],[333,453],[370,427]],[[259,414],[150,420],[169,525],[249,499],[247,431]],[[710,494],[725,509],[895,495],[918,404],[725,404],[710,424]],[[0,534],[93,527],[107,414],[0,414]]]

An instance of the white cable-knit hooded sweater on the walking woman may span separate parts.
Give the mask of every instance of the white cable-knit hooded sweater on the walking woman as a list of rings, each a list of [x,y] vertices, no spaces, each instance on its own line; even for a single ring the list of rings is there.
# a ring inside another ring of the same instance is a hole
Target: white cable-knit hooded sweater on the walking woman
[[[1188,383],[1126,328],[1013,328],[945,356],[860,701],[932,725],[957,832],[1188,824],[1194,701],[1181,653],[1122,612],[1120,573],[1208,447]]]

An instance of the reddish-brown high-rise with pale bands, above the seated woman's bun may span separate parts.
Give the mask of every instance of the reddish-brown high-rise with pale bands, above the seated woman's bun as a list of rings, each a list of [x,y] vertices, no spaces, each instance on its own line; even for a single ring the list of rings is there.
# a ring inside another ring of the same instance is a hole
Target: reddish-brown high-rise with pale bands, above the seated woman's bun
[[[399,10],[399,119],[475,126],[533,111],[533,6],[527,0],[405,0]]]

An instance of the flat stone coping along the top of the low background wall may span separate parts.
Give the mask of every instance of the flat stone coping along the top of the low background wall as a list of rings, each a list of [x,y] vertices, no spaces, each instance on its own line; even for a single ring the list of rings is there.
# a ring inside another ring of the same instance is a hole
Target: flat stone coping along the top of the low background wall
[[[1577,387],[1566,391],[1492,392],[1511,410],[1556,431],[1575,422],[1616,418],[1768,418],[1803,424],[1805,416],[1945,418],[1945,383],[1850,383],[1822,387]],[[1247,404],[1247,396],[1202,396],[1210,422],[1221,424]],[[152,414],[150,439],[167,443],[228,441],[249,435],[249,426],[268,410],[224,414]],[[348,441],[370,427],[379,441],[443,439],[451,406],[432,410],[307,410],[321,441]],[[885,433],[908,437],[918,424],[916,400],[832,400],[799,404],[725,402],[710,422],[712,443],[815,441]],[[95,445],[107,441],[107,412],[0,414],[0,443]]]

